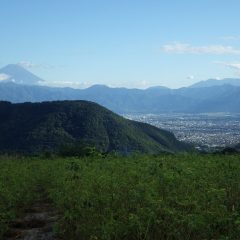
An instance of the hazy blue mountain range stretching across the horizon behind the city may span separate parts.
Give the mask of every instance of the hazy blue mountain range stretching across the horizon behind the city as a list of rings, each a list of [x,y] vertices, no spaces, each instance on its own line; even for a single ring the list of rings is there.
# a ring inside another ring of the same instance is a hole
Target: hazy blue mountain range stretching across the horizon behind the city
[[[17,72],[14,68],[11,65],[12,75]],[[3,72],[0,70],[0,74]],[[24,69],[24,72],[27,76],[27,70]],[[11,75],[7,71],[5,74]],[[179,89],[157,86],[145,90],[104,85],[94,85],[87,89],[52,88],[35,84],[41,81],[35,75],[25,81],[21,74],[16,74],[14,79],[18,81],[0,83],[0,100],[13,103],[88,100],[117,113],[240,113],[240,79],[207,80]]]

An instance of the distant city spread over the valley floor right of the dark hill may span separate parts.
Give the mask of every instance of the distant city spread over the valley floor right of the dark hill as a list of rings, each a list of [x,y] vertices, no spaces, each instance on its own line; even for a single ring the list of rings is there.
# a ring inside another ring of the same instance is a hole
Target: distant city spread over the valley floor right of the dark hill
[[[169,130],[177,139],[201,150],[240,142],[240,114],[126,114],[124,117]]]

